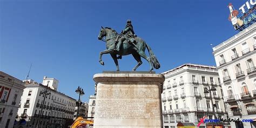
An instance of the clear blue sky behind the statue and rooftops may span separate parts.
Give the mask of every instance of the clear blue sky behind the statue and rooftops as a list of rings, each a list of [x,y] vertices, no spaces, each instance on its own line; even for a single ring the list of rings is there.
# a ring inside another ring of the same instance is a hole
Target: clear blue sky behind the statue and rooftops
[[[228,21],[228,3],[238,8],[246,1],[0,1],[0,70],[25,79],[43,76],[59,80],[58,90],[83,100],[94,93],[93,75],[116,70],[110,55],[98,63],[105,43],[98,41],[100,26],[118,32],[131,19],[136,35],[157,56],[161,73],[184,63],[215,65],[212,46],[237,33]],[[119,60],[120,70],[130,71],[132,56]],[[138,71],[149,70],[143,60]]]

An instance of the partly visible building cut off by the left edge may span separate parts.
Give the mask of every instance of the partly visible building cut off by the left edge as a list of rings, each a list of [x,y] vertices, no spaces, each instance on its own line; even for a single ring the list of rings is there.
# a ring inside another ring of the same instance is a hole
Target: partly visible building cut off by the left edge
[[[24,83],[0,71],[0,127],[13,127]]]

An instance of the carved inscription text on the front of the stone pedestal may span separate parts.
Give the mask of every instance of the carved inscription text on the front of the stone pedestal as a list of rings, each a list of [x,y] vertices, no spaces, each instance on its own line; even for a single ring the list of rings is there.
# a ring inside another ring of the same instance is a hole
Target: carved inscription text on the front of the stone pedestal
[[[96,118],[159,119],[158,91],[142,89],[98,90]]]

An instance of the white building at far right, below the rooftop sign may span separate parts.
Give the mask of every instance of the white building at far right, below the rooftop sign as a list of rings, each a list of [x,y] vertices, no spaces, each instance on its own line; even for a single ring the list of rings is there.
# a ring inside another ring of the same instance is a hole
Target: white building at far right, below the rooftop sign
[[[252,24],[213,48],[232,127],[256,127],[256,24]]]

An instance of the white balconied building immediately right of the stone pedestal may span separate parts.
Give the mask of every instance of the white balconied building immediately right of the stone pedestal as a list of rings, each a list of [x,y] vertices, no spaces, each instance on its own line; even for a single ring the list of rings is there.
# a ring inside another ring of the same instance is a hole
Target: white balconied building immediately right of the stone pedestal
[[[197,126],[201,118],[226,119],[218,71],[214,66],[184,64],[178,68],[162,73],[163,84],[162,110],[164,128],[174,128],[182,123]],[[204,93],[204,87],[216,91]],[[185,126],[186,126],[185,125]],[[205,123],[200,127],[211,127],[216,124]],[[217,124],[228,127],[226,124]]]

